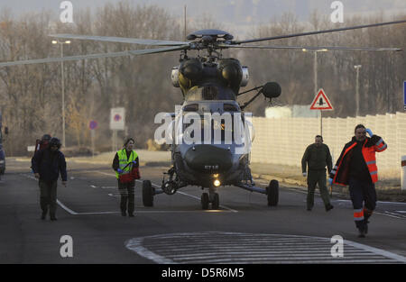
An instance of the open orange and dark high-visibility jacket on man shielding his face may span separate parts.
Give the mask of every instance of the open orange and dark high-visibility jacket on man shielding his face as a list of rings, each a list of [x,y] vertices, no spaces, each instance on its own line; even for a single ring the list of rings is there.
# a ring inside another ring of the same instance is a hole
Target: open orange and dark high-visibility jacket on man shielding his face
[[[346,143],[344,149],[341,151],[340,157],[337,159],[336,166],[331,170],[330,178],[333,179],[334,184],[341,186],[346,186],[349,183],[349,178],[354,177],[354,171],[351,171],[351,168],[354,169],[355,166],[364,166],[370,174],[370,178],[373,183],[378,181],[378,168],[376,167],[375,152],[381,152],[386,150],[388,146],[383,141],[380,136],[373,135],[371,138],[366,137],[362,147],[358,148],[358,142],[355,139],[355,136],[351,141]],[[361,154],[363,159],[359,159],[355,154],[359,153],[356,150],[361,149]],[[355,159],[356,158],[356,159]],[[356,173],[362,174],[355,178],[364,178],[364,168],[357,168]],[[369,179],[368,179],[369,181]]]

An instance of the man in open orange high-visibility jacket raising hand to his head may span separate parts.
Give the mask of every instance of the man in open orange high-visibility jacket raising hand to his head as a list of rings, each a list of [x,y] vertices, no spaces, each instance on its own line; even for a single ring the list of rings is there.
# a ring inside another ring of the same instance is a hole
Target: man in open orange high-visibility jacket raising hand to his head
[[[366,132],[371,137],[366,137]],[[378,168],[375,152],[386,150],[387,147],[380,136],[365,129],[363,124],[356,125],[355,136],[344,146],[328,178],[330,185],[349,186],[355,226],[361,238],[368,232],[368,219],[376,207],[374,183],[378,181]]]

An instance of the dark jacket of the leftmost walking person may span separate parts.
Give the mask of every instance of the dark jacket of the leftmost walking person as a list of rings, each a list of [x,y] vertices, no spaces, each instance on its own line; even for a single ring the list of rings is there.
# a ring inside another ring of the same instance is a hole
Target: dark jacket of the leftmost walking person
[[[60,150],[52,152],[50,148],[38,150],[31,159],[32,170],[40,174],[42,181],[56,181],[62,177],[62,181],[67,181],[65,156]]]

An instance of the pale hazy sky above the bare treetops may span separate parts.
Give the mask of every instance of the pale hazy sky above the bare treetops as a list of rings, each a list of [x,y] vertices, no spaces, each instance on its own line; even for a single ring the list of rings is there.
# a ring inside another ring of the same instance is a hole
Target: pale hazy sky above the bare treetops
[[[334,0],[127,0],[134,5],[160,5],[180,18],[183,7],[187,5],[188,18],[196,19],[199,14],[212,14],[218,23],[225,27],[247,27],[254,23],[268,23],[272,17],[283,12],[297,14],[300,21],[306,21],[309,13],[318,9],[320,14],[329,15],[333,12],[330,5]],[[0,8],[11,8],[15,15],[27,12],[49,10],[56,18],[62,10],[62,0],[0,0]],[[119,0],[70,0],[75,9],[94,8],[115,3]],[[344,5],[344,21],[346,15],[369,14],[383,11],[385,15],[406,13],[406,0],[341,0]]]

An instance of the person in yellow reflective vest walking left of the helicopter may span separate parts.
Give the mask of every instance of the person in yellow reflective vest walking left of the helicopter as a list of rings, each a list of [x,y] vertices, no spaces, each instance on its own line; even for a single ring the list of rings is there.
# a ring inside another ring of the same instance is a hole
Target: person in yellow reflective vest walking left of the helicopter
[[[115,169],[115,177],[118,181],[118,191],[120,192],[121,201],[121,215],[126,216],[128,211],[128,216],[134,216],[134,186],[135,180],[129,183],[121,183],[119,176],[120,174],[129,173],[133,168],[139,168],[138,155],[134,149],[134,139],[129,138],[125,141],[122,150],[118,150],[115,153],[115,159],[113,160],[113,169]],[[132,164],[130,164],[132,163]],[[126,168],[125,166],[128,165]]]

